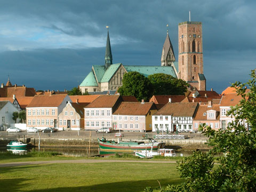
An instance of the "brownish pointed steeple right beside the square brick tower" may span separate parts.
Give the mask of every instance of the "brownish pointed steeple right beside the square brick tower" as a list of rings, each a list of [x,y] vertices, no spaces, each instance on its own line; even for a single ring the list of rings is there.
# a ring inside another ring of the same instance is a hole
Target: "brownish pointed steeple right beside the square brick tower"
[[[162,51],[161,66],[171,66],[174,61],[175,61],[174,51],[173,51],[172,43],[170,41],[168,30],[167,30],[167,35],[165,38],[163,51]]]

